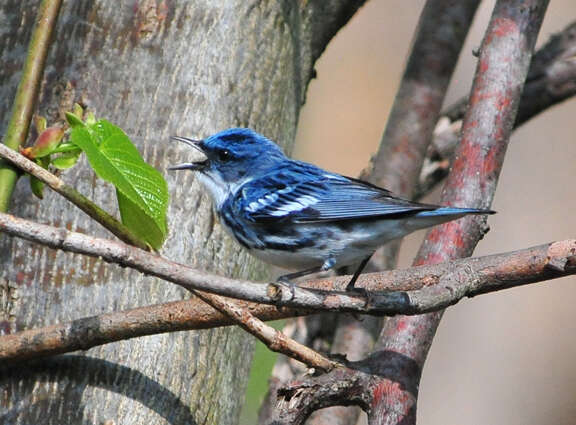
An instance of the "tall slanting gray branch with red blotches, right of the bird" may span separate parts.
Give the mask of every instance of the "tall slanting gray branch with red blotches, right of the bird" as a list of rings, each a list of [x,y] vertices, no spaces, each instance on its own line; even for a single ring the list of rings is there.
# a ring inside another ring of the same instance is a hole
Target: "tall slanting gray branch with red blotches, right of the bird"
[[[451,205],[488,207],[491,204],[534,44],[548,0],[498,0],[486,31],[462,138],[452,171],[442,194]],[[467,218],[432,229],[415,264],[435,264],[471,255],[486,233],[481,218]],[[414,367],[404,372],[407,387],[417,389],[428,350],[442,318],[438,311],[423,316],[387,320],[377,349],[410,359]],[[391,368],[398,364],[391,364]],[[387,391],[382,382],[374,394]],[[413,393],[417,397],[417,392]],[[404,412],[398,418],[396,413]],[[390,393],[373,398],[369,424],[406,425],[416,421],[416,405],[405,394]]]

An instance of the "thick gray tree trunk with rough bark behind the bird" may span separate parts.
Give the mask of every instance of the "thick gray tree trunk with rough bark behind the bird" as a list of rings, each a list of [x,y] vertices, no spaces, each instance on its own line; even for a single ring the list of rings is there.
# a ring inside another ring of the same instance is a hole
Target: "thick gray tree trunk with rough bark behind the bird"
[[[38,0],[0,4],[0,130],[6,127]],[[294,139],[315,59],[362,1],[77,0],[64,2],[39,113],[80,100],[120,125],[162,172],[190,153],[169,135],[249,126]],[[167,173],[170,237],[162,254],[242,278],[265,268],[225,236],[191,173]],[[86,164],[63,174],[109,211],[113,190]],[[54,193],[21,179],[11,212],[111,237]],[[190,296],[97,259],[0,236],[0,331],[15,332]],[[233,424],[252,338],[239,329],[104,345],[0,372],[3,424]]]

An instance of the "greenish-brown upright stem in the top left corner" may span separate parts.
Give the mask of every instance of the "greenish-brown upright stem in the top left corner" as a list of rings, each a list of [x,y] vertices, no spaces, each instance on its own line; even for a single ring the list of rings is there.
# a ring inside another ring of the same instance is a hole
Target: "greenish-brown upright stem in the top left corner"
[[[50,38],[58,18],[62,0],[43,0],[38,12],[36,28],[32,33],[28,57],[22,78],[16,91],[12,116],[8,123],[4,144],[12,149],[22,145],[28,135],[32,113],[38,99],[44,63],[50,47]],[[4,161],[0,161],[0,211],[8,211],[10,198],[18,172]]]

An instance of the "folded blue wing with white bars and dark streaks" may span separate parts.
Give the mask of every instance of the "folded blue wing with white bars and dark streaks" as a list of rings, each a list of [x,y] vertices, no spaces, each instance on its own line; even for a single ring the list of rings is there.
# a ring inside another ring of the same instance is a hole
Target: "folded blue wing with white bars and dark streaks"
[[[259,223],[392,218],[437,208],[396,198],[369,183],[297,161],[245,184],[237,196],[242,197],[244,216]]]

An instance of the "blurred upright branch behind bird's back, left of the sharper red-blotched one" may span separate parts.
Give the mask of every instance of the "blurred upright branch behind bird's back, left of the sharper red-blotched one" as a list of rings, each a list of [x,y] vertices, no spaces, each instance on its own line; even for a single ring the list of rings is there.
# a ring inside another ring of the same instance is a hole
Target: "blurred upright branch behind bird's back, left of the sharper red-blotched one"
[[[479,0],[426,2],[380,148],[371,167],[363,172],[364,179],[402,196],[412,196],[448,84],[479,4]],[[373,270],[393,268],[399,243],[395,241],[379,251],[369,267]],[[369,319],[361,322],[354,332],[347,334],[344,344],[354,350],[362,341],[371,339],[370,331],[362,329],[369,322]],[[319,423],[336,420],[356,423],[357,415],[350,414],[343,421],[341,412],[333,415],[338,419],[329,417],[330,409],[318,413],[322,415]],[[312,418],[308,422],[316,424]]]

